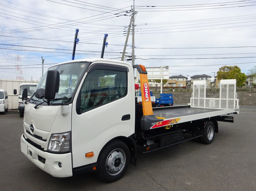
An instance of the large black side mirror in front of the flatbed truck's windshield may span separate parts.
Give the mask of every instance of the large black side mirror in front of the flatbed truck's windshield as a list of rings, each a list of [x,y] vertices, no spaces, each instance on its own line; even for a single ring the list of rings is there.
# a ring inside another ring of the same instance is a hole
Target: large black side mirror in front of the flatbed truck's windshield
[[[59,91],[60,73],[57,70],[48,70],[45,82],[45,99],[55,98],[55,93]]]

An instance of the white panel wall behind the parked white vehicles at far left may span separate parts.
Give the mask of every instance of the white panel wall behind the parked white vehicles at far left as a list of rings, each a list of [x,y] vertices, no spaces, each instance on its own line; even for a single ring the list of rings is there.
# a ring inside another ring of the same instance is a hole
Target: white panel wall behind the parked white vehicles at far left
[[[20,91],[21,83],[38,83],[39,80],[6,80],[0,79],[0,89],[5,89],[8,93],[8,108],[18,109],[18,96],[15,96],[13,93],[14,89],[17,89],[17,93]]]

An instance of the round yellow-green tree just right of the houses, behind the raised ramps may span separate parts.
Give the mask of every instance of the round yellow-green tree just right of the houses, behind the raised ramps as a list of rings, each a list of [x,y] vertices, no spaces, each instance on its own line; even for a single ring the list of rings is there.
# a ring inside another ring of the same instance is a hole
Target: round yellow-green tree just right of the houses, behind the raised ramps
[[[217,79],[236,79],[237,86],[244,84],[247,76],[245,73],[241,73],[241,69],[237,66],[223,66],[219,68],[217,72]]]

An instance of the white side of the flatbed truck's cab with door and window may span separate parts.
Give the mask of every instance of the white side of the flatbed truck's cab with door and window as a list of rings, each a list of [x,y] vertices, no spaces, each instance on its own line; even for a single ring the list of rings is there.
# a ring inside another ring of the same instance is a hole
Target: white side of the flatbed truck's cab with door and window
[[[92,63],[88,68],[72,108],[73,168],[97,162],[109,140],[134,132],[134,79],[130,72],[126,64]],[[94,156],[86,158],[88,152]]]

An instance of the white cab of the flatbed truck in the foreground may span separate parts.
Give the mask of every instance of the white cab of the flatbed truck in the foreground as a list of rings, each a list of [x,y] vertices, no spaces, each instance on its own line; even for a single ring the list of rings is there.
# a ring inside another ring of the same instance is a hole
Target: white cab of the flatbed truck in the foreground
[[[51,70],[59,73],[59,87],[45,102],[46,73],[25,104],[22,152],[56,177],[96,171],[103,163],[99,156],[106,155],[104,147],[118,140],[131,144],[129,136],[134,134],[135,124],[133,67],[122,61],[89,59],[61,63]],[[45,90],[44,98],[38,96],[40,89]],[[130,160],[126,149],[113,149],[118,160],[108,163],[118,168],[105,168],[106,176],[122,175]]]

